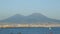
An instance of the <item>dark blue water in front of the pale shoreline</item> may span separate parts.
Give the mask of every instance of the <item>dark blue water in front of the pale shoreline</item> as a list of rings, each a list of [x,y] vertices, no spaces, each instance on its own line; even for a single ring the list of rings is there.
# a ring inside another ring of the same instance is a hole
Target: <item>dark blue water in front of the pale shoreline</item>
[[[0,28],[0,34],[60,34],[60,27],[49,28]]]

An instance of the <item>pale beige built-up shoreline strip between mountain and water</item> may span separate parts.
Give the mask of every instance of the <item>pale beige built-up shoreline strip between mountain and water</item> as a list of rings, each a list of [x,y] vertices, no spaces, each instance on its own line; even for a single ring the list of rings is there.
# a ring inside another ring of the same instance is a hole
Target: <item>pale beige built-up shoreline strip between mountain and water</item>
[[[5,24],[0,25],[0,28],[17,28],[17,27],[60,27],[60,24]]]

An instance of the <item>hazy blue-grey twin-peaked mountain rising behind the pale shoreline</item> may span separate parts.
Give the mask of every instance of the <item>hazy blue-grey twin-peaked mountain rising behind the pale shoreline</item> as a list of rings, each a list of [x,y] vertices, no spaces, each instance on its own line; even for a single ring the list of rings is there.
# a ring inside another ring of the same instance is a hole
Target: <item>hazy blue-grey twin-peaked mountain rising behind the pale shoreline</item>
[[[16,14],[8,17],[7,19],[1,20],[0,22],[7,23],[59,23],[60,20],[48,18],[40,13],[33,13],[29,16]]]

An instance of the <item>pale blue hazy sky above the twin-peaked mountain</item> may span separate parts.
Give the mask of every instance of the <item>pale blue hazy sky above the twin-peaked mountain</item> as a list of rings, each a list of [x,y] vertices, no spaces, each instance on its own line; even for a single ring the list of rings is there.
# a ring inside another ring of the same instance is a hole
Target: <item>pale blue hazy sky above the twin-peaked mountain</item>
[[[0,20],[15,14],[32,13],[60,19],[60,0],[0,0]]]

